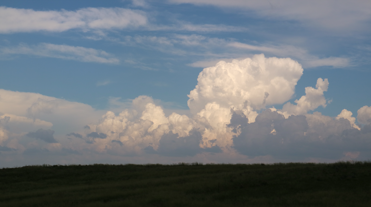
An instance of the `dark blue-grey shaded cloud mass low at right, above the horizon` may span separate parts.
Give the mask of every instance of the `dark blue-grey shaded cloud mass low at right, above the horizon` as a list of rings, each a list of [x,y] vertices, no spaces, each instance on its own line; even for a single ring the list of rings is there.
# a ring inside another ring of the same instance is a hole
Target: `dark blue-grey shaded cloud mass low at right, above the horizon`
[[[247,123],[244,115],[233,114],[232,118],[233,129],[240,131],[233,137],[234,148],[245,155],[290,160],[370,155],[370,131],[352,128],[344,118],[333,119],[318,113],[285,118],[270,109],[259,114],[253,123]]]

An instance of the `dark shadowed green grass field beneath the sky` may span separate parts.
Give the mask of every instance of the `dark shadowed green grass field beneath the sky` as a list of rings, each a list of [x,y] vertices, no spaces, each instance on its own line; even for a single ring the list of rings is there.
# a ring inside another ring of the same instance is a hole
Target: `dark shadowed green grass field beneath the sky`
[[[371,206],[371,162],[0,169],[0,206]]]

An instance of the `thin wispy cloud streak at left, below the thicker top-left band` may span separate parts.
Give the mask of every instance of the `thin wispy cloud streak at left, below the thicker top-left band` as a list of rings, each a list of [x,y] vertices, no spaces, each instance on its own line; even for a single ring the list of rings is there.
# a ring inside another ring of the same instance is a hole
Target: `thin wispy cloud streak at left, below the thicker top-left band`
[[[81,62],[98,62],[98,63],[119,63],[119,60],[104,50],[93,48],[54,45],[50,43],[40,43],[36,46],[20,44],[15,47],[1,47],[0,52],[3,55],[35,55],[50,58],[61,58],[68,60],[77,60]]]

